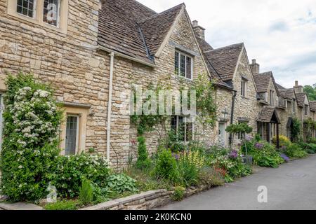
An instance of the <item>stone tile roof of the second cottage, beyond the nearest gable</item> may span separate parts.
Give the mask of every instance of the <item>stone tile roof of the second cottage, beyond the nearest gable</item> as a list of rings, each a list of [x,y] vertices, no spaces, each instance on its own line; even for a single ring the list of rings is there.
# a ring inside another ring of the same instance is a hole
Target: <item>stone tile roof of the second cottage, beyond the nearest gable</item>
[[[214,50],[203,49],[206,59],[211,62],[222,80],[232,80],[244,43],[237,43]]]

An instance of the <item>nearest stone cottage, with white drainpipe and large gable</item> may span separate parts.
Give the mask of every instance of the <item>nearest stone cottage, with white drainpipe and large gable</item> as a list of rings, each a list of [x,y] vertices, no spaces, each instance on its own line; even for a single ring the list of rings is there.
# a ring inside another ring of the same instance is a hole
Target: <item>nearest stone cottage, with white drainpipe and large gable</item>
[[[213,77],[184,4],[156,13],[133,0],[1,0],[0,13],[0,89],[6,91],[6,73],[19,70],[52,83],[65,109],[64,155],[94,148],[114,166],[126,165],[137,156],[136,128],[121,113],[122,94],[134,85],[178,90],[199,74]],[[216,83],[232,96],[228,85]],[[213,129],[186,120],[173,116],[167,126],[185,123],[183,141],[216,138]],[[160,138],[146,134],[151,153]]]

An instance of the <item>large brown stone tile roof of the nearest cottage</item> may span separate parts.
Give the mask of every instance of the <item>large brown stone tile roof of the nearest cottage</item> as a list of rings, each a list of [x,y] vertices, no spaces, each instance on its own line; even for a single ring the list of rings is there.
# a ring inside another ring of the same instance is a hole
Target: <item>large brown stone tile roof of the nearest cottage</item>
[[[135,0],[105,0],[99,12],[98,43],[154,64],[157,52],[184,4],[162,13]]]

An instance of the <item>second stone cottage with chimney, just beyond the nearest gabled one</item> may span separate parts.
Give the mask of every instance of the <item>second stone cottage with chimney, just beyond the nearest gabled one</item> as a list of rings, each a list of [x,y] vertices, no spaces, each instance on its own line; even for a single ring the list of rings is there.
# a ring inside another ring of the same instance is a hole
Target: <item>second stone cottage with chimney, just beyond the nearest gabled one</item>
[[[222,113],[227,114],[227,119],[219,120],[220,141],[228,145],[234,140],[225,132],[225,128],[231,123],[248,123],[256,133],[257,91],[244,43],[213,49],[205,41],[205,29],[197,21],[193,21],[193,27],[209,66],[218,76],[218,80],[232,90],[229,96],[218,99],[218,113],[223,111]],[[237,138],[240,140],[242,137]],[[238,141],[234,143],[237,144]]]

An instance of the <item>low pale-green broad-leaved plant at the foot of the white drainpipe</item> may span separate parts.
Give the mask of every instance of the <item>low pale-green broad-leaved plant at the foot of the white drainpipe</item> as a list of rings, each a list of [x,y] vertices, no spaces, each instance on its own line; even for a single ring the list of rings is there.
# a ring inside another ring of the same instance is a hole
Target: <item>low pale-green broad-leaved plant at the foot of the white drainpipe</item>
[[[112,174],[107,178],[105,191],[114,193],[136,193],[136,180],[126,174]]]

